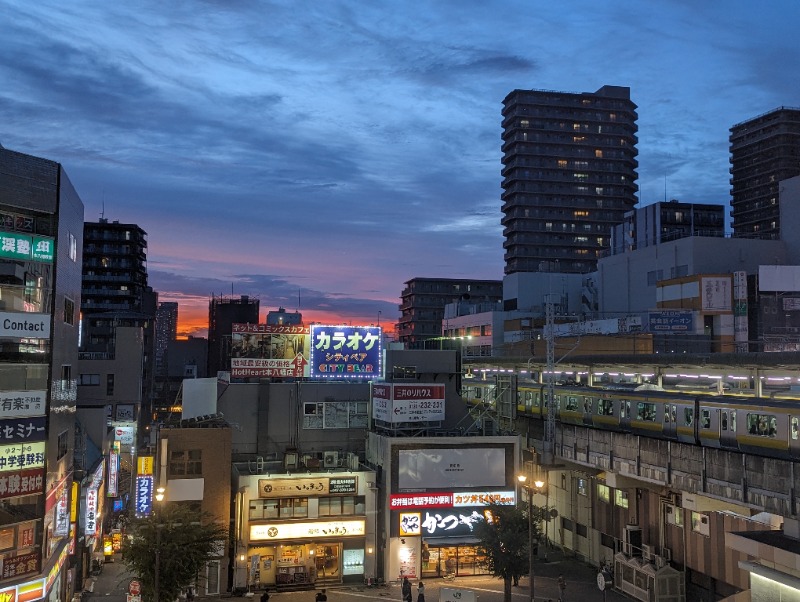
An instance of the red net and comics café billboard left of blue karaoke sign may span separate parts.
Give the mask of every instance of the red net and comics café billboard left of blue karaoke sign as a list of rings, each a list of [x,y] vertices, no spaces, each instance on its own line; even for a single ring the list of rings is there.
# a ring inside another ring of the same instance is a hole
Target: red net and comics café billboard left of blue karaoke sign
[[[234,324],[231,377],[307,377],[309,344],[307,326]]]

